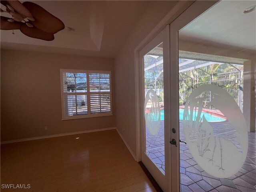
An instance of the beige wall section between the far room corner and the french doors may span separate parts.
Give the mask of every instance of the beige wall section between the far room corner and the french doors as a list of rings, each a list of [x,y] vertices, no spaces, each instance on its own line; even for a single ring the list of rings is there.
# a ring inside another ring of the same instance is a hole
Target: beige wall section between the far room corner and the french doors
[[[176,3],[176,1],[151,2],[115,58],[116,127],[134,154],[136,154],[134,49]]]

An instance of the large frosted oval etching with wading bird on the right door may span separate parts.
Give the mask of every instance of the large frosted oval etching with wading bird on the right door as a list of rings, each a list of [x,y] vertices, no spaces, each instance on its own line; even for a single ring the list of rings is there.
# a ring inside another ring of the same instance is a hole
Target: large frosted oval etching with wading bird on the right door
[[[218,108],[233,130],[232,137],[215,134],[214,128],[202,114],[203,103]],[[192,91],[184,108],[184,135],[188,148],[198,165],[208,174],[227,178],[240,170],[248,150],[248,133],[244,116],[236,101],[226,90],[206,84]]]

